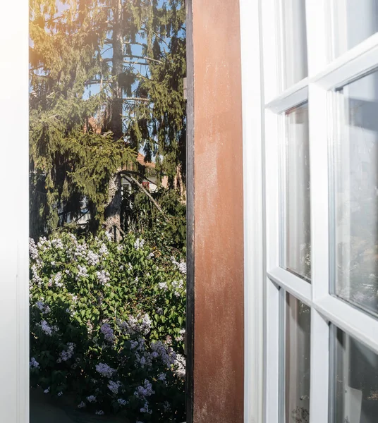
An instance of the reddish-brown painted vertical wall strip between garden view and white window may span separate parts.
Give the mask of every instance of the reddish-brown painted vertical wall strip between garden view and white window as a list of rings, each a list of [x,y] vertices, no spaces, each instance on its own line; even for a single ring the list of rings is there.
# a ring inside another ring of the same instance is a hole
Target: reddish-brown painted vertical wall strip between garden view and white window
[[[188,95],[193,95],[193,101],[188,102],[193,111],[188,117],[188,125],[193,125],[188,130],[188,145],[194,145],[193,422],[242,423],[243,168],[238,0],[190,0],[188,13],[192,13],[188,29],[193,25],[193,38],[188,42],[188,59],[193,59],[188,66]],[[190,178],[190,166],[188,170]]]

